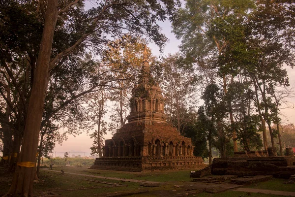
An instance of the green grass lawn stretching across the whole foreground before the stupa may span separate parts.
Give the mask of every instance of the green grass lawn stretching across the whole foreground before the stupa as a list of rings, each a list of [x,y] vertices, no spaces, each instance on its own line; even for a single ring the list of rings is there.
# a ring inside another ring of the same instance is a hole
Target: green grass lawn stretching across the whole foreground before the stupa
[[[55,167],[54,170],[61,168]],[[126,179],[148,180],[156,181],[161,184],[159,187],[142,187],[139,183],[118,181],[110,179],[99,179],[94,177],[84,177],[74,174],[63,174],[57,172],[40,171],[40,181],[34,183],[34,196],[45,195],[60,195],[62,197],[105,197],[111,194],[118,193],[130,193],[137,191],[149,191],[148,193],[136,194],[128,197],[170,197],[177,194],[188,194],[189,197],[248,197],[250,193],[226,191],[218,194],[209,194],[203,192],[201,189],[187,190],[188,185],[191,184],[189,178],[190,170],[180,171],[164,171],[164,172],[122,172],[122,171],[109,171],[109,170],[97,170],[88,169],[82,167],[63,167],[65,172],[73,172],[77,174],[89,174],[104,177],[116,177]],[[12,177],[12,174],[8,174],[7,177],[0,177],[0,196],[4,195],[9,187],[11,180],[8,177]],[[106,184],[105,182],[109,183]],[[268,189],[279,191],[295,191],[295,184],[284,184],[286,179],[273,178],[267,182],[261,182],[246,186],[248,188],[255,189]],[[112,184],[117,184],[116,187]],[[120,185],[119,187],[118,184]],[[180,188],[174,187],[175,185],[181,186]],[[195,186],[194,186],[195,187]],[[191,187],[193,188],[193,187]],[[199,191],[198,191],[199,190]],[[50,193],[51,192],[51,193]],[[191,192],[191,193],[190,193]],[[195,192],[195,193],[193,193]],[[257,194],[251,193],[253,197],[279,197],[275,195]]]

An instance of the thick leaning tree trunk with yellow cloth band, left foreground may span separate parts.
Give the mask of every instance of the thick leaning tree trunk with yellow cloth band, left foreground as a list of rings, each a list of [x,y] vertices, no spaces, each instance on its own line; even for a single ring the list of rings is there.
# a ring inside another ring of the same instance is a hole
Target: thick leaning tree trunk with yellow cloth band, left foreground
[[[58,0],[47,2],[46,18],[40,44],[33,86],[29,99],[23,144],[8,194],[32,197],[38,137],[44,111],[44,100],[49,80],[52,41],[58,18]]]

